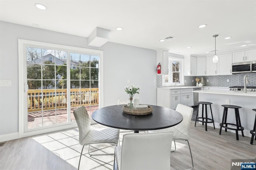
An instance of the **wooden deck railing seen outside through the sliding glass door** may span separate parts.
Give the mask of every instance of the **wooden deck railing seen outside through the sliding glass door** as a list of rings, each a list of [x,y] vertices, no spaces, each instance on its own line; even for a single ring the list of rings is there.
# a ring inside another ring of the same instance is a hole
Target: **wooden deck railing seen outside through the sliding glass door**
[[[67,107],[67,89],[28,90],[28,112]],[[70,89],[71,107],[99,104],[98,88]]]

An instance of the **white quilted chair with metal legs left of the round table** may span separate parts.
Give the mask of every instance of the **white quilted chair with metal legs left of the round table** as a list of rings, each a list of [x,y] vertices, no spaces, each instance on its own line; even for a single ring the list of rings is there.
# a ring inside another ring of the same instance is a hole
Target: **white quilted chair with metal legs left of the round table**
[[[89,145],[88,154],[90,156],[100,156],[100,155],[114,155],[112,154],[90,154],[90,144],[96,143],[109,143],[114,146],[118,145],[119,141],[119,129],[116,128],[105,128],[103,130],[93,130],[90,128],[90,117],[86,108],[84,106],[76,109],[74,111],[74,117],[78,125],[79,130],[79,143],[83,145],[80,159],[78,163],[78,170],[80,166],[80,161],[82,157],[82,152],[85,145]]]

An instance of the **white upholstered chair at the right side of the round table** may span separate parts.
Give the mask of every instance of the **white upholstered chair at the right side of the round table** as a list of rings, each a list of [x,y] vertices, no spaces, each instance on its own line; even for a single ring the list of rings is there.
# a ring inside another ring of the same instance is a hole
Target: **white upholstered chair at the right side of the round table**
[[[176,125],[174,127],[170,127],[170,128],[148,131],[148,132],[172,131],[173,132],[172,140],[174,140],[175,150],[176,150],[175,140],[185,140],[188,142],[188,139],[190,138],[189,128],[190,128],[190,122],[191,122],[191,118],[192,118],[192,114],[193,114],[193,108],[182,105],[182,104],[178,104],[176,107],[176,111],[180,112],[183,116],[183,120],[181,123],[179,123],[178,125]],[[194,168],[194,163],[193,163],[193,158],[192,158],[192,153],[191,153],[189,142],[188,142],[188,148],[190,151],[190,156],[191,156],[191,161],[192,161],[192,168],[190,168],[190,170],[192,170]],[[175,150],[173,150],[173,151],[175,151]]]

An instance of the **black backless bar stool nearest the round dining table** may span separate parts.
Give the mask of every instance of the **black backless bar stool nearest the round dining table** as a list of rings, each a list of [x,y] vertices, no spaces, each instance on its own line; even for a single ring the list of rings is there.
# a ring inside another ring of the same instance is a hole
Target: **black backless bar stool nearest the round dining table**
[[[203,125],[205,123],[205,131],[207,131],[207,123],[213,123],[213,127],[215,129],[213,116],[212,116],[212,119],[207,117],[207,105],[210,105],[211,114],[212,114],[212,107],[211,107],[212,103],[205,102],[205,101],[199,101],[197,103],[198,103],[198,108],[197,108],[197,113],[196,113],[196,121],[202,122]],[[202,105],[202,117],[198,117],[198,111],[199,111],[200,104]],[[205,117],[204,117],[204,105],[205,105]],[[202,119],[202,120],[199,120],[199,119]],[[205,119],[205,121],[204,121],[204,119]],[[196,127],[196,123],[195,123],[195,127]]]

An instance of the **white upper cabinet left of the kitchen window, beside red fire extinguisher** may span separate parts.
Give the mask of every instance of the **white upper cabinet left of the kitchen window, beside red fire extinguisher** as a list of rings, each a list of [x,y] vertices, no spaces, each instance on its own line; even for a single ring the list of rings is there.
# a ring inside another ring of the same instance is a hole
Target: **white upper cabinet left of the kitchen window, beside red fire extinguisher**
[[[161,74],[158,75],[166,75],[168,74],[169,69],[169,57],[168,57],[168,49],[160,49],[156,51],[156,65],[158,63],[161,64]]]

